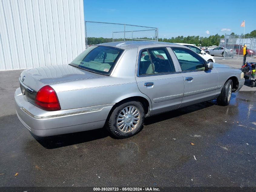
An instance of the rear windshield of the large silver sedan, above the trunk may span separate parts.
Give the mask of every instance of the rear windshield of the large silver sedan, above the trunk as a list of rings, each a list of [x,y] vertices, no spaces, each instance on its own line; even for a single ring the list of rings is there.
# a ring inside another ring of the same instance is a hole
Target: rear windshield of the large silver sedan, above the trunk
[[[78,55],[69,65],[91,72],[110,75],[122,49],[108,46],[91,46]]]

